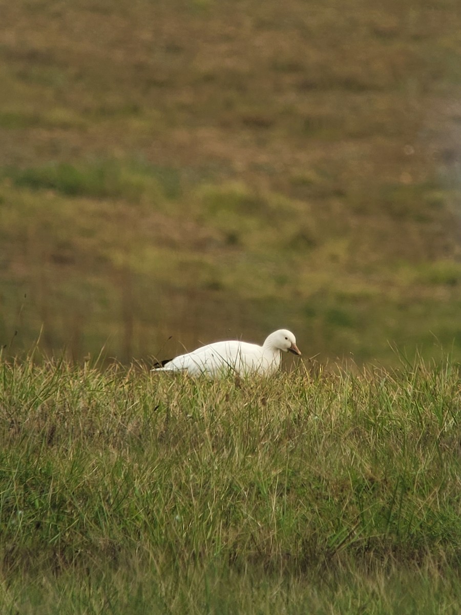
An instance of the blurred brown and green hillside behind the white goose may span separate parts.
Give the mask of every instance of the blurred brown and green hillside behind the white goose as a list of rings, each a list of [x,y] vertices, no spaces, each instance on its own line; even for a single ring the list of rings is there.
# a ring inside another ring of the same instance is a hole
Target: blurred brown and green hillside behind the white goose
[[[4,353],[460,359],[460,7],[2,2]]]

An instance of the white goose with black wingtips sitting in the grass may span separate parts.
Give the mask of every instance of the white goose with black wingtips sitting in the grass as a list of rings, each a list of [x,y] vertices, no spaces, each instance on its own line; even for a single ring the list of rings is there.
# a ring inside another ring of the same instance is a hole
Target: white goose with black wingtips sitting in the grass
[[[293,333],[279,329],[267,336],[262,346],[237,340],[215,342],[157,363],[152,371],[187,371],[190,376],[222,376],[226,373],[270,376],[280,367],[282,352],[287,351],[301,355]]]

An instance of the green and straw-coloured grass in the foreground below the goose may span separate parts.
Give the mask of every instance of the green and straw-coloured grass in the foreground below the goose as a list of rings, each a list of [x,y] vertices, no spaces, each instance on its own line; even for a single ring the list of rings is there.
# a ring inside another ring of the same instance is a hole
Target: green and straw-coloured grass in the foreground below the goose
[[[459,365],[0,365],[0,610],[461,608]]]

